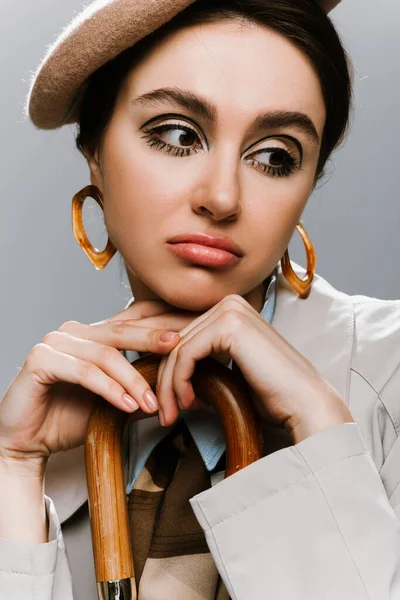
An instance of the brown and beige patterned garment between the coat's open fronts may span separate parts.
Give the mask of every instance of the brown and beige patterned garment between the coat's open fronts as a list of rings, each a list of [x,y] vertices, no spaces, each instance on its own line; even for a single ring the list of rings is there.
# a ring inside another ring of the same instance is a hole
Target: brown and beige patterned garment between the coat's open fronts
[[[181,419],[153,448],[128,498],[137,600],[230,600],[189,502],[210,487]]]

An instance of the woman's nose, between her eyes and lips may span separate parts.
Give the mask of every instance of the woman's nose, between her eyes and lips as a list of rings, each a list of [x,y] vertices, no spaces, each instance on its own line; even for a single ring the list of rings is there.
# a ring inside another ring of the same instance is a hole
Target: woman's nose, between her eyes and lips
[[[193,210],[214,221],[235,221],[242,210],[237,156],[228,151],[210,152],[192,194]]]

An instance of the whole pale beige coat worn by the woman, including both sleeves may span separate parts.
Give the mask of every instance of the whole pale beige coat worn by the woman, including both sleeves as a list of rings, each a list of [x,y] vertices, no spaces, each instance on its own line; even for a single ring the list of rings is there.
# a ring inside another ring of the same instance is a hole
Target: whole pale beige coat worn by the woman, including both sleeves
[[[264,458],[191,500],[218,570],[232,600],[396,600],[400,301],[350,297],[320,277],[300,300],[279,273],[273,326],[355,423],[295,446],[266,426]],[[51,457],[46,493],[51,541],[0,539],[0,598],[96,600],[82,447]]]

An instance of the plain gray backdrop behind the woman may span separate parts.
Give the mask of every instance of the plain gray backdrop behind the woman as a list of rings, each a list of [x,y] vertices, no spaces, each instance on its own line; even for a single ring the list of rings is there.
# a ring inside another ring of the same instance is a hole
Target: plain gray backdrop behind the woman
[[[70,319],[111,316],[130,298],[119,256],[96,271],[72,234],[71,198],[89,183],[74,129],[38,131],[23,115],[31,71],[81,6],[0,0],[0,398],[46,332]],[[304,223],[318,272],[335,287],[399,298],[400,2],[344,0],[332,18],[355,67],[355,111]],[[92,242],[104,247],[89,200],[84,218]],[[290,248],[304,264],[297,239]]]

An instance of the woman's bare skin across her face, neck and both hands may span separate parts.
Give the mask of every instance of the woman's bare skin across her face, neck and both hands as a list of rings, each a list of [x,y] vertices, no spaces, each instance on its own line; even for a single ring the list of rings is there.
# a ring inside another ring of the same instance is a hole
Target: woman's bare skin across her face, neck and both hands
[[[48,457],[83,444],[99,398],[134,413],[133,420],[158,411],[161,424],[170,425],[181,408],[201,405],[190,378],[205,356],[233,359],[260,416],[286,427],[293,443],[353,420],[314,366],[259,314],[262,282],[283,256],[313,189],[320,142],[292,125],[250,126],[259,113],[298,111],[320,140],[325,107],[318,77],[295,47],[265,28],[242,25],[190,27],[158,44],[126,78],[103,144],[87,153],[136,302],[107,321],[67,321],[46,334],[1,400],[2,538],[47,541]],[[208,99],[215,126],[171,101],[133,102],[160,87]],[[142,137],[149,119],[155,119],[152,127],[191,126],[196,135],[175,129],[163,140],[194,144],[198,151],[175,156],[149,147]],[[286,151],[299,166],[299,144],[301,168],[287,177],[252,162],[276,167]],[[280,154],[265,151],[271,147]],[[243,256],[224,269],[183,261],[170,253],[167,240],[188,231],[229,236]],[[174,339],[162,341],[166,329],[177,333]],[[162,355],[153,404],[146,401],[148,382],[121,349]]]

